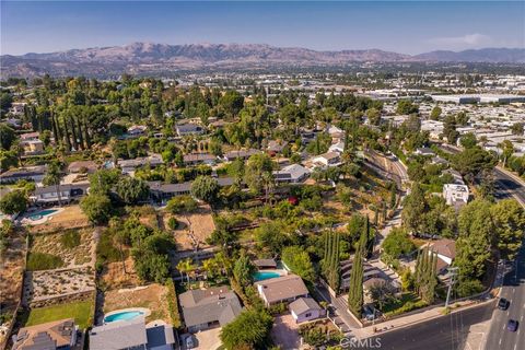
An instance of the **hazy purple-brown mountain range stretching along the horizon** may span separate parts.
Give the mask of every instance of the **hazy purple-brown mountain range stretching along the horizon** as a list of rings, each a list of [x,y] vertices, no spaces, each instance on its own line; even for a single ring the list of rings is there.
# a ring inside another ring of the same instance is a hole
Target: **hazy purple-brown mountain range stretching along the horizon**
[[[380,49],[317,51],[262,44],[126,46],[71,49],[50,54],[0,56],[2,77],[115,75],[199,69],[260,69],[271,67],[330,67],[352,62],[490,62],[525,63],[525,48],[485,48],[404,55]]]

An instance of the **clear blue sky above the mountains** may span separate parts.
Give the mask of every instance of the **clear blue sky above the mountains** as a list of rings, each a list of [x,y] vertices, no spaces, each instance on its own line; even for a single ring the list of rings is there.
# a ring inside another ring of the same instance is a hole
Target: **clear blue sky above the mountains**
[[[1,1],[1,54],[250,43],[318,50],[525,47],[525,1]]]

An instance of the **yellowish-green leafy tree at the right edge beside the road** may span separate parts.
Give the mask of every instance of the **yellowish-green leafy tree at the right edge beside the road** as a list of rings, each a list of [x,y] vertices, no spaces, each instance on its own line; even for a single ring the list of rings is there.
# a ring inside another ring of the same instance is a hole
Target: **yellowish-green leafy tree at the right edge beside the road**
[[[514,199],[500,200],[490,211],[494,221],[494,242],[501,257],[513,260],[525,238],[525,211]]]

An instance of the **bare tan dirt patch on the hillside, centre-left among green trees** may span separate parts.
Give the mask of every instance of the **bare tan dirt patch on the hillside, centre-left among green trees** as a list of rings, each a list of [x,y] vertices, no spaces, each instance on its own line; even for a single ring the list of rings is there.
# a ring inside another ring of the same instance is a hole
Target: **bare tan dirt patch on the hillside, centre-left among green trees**
[[[167,226],[168,215],[165,215]],[[215,230],[210,208],[201,207],[198,212],[188,215],[175,215],[179,228],[175,230],[175,240],[179,249],[191,249],[195,244],[207,245],[206,238]]]

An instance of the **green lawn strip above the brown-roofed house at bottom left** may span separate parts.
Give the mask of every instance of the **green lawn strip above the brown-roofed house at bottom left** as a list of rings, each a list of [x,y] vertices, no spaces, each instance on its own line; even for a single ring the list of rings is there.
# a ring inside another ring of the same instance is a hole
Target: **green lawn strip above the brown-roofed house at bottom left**
[[[27,315],[25,326],[45,324],[63,318],[74,318],[74,323],[82,329],[92,325],[93,307],[91,301],[59,304],[47,307],[32,308]]]

